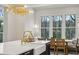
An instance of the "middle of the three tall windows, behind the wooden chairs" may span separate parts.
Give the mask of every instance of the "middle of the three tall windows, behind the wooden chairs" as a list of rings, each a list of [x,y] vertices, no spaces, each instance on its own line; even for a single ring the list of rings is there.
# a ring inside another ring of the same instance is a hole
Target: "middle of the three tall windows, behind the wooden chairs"
[[[61,38],[62,16],[53,16],[53,37]]]

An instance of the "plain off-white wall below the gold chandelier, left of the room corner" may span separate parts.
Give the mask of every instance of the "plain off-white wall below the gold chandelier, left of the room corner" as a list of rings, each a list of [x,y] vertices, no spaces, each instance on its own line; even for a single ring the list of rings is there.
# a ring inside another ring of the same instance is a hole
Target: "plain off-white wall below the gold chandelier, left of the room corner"
[[[4,42],[20,40],[23,38],[24,31],[33,31],[34,15],[24,16],[14,15],[12,12],[5,12],[4,20]]]

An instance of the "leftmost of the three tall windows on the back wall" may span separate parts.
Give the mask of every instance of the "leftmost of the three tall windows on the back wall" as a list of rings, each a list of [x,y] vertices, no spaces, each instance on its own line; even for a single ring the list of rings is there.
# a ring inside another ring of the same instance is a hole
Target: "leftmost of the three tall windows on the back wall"
[[[49,38],[49,17],[42,16],[41,17],[41,37]]]

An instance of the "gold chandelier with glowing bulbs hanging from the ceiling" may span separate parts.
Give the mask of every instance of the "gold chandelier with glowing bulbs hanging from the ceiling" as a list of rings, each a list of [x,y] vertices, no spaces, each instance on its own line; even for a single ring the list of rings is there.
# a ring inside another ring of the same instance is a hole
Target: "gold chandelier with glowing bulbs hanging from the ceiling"
[[[8,5],[7,11],[11,11],[15,15],[26,15],[29,13],[26,5]]]

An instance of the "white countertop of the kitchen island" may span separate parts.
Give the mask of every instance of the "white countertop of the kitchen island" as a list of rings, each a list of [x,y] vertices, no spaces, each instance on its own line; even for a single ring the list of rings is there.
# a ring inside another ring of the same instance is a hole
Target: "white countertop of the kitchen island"
[[[42,53],[45,51],[45,43],[49,41],[36,41],[36,42],[30,42],[26,43],[24,45],[21,45],[21,41],[12,41],[12,42],[5,42],[4,43],[4,53],[3,54],[12,54],[12,55],[17,55],[21,54],[23,52],[29,51],[31,49],[37,50],[38,48],[42,47],[42,50],[39,50],[39,53]],[[44,47],[44,48],[43,48]],[[36,51],[35,51],[36,53]],[[38,52],[36,53],[38,54]]]

